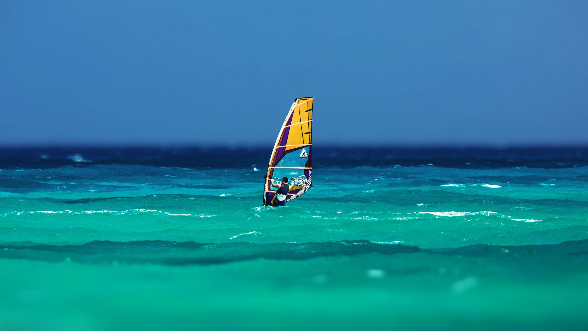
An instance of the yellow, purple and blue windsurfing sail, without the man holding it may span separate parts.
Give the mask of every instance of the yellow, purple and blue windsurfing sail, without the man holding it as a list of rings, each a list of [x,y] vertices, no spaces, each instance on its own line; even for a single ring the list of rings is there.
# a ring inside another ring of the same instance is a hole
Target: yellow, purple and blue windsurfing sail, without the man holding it
[[[280,128],[269,158],[263,188],[263,206],[273,203],[276,188],[270,179],[282,183],[288,177],[286,201],[302,196],[312,188],[312,104],[314,98],[296,98]]]

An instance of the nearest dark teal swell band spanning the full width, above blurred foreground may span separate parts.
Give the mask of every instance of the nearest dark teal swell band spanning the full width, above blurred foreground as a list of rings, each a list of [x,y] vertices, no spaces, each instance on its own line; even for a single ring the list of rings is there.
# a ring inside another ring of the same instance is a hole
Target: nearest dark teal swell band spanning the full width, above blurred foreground
[[[248,234],[253,234],[252,231]],[[240,234],[246,235],[246,234]],[[236,236],[236,237],[238,237]],[[524,257],[573,259],[576,267],[588,269],[588,239],[560,244],[497,246],[477,244],[452,249],[421,249],[402,241],[342,240],[305,243],[197,243],[195,241],[91,241],[79,245],[0,245],[0,258],[78,263],[152,263],[166,265],[219,264],[252,259],[308,260],[318,257],[359,254],[441,254],[445,256],[506,258],[519,264]]]

